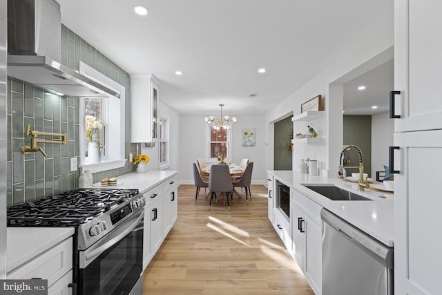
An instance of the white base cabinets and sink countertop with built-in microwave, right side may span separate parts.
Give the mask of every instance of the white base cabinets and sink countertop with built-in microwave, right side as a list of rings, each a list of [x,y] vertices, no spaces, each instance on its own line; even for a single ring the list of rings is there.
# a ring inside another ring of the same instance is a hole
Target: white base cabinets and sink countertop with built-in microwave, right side
[[[358,191],[358,183],[348,179],[323,178],[296,171],[267,171],[267,181],[269,220],[316,295],[323,291],[323,209],[393,247],[393,193]],[[332,198],[339,200],[331,200],[313,190],[324,191],[319,187],[334,189],[349,200],[340,200],[333,193]]]

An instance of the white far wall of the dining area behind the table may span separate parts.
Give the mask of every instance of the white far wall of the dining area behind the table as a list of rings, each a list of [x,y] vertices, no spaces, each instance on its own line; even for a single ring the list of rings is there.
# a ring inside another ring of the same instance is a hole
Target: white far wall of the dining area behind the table
[[[210,114],[208,114],[210,115]],[[192,162],[205,158],[207,153],[207,125],[204,115],[180,115],[179,171],[182,183],[193,184]],[[253,161],[252,183],[265,183],[267,127],[262,115],[236,115],[238,123],[232,128],[232,157],[230,162],[240,163],[242,158]],[[256,146],[242,146],[242,129],[256,129]]]

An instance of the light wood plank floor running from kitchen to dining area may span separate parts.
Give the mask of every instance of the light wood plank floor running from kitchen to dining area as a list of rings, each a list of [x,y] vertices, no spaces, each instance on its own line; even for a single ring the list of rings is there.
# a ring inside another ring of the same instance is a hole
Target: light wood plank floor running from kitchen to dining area
[[[240,191],[240,189],[237,189]],[[144,272],[144,294],[314,294],[267,218],[267,188],[231,211],[178,188],[178,219]]]

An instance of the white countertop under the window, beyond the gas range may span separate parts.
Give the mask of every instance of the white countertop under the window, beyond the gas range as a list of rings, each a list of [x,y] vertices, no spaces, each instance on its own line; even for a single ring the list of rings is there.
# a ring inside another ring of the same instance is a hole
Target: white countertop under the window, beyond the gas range
[[[162,182],[166,178],[170,178],[171,176],[177,174],[178,171],[148,171],[144,173],[129,173],[122,176],[117,177],[116,186],[112,187],[103,187],[107,189],[138,189],[140,193],[144,191],[148,191],[155,187],[158,183]],[[121,183],[121,184],[119,184]],[[93,185],[93,188],[101,187],[101,183],[97,182]]]

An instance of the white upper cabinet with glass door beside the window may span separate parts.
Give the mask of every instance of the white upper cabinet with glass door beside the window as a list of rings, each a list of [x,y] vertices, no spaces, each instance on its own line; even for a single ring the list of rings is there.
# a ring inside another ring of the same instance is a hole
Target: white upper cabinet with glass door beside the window
[[[154,75],[131,75],[131,142],[157,142],[160,91]]]

